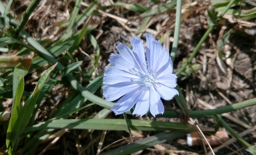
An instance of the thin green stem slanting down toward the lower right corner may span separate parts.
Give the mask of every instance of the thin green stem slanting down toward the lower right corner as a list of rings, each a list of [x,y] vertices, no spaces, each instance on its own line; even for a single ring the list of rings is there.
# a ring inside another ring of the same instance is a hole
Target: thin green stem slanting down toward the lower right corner
[[[234,131],[223,119],[220,115],[218,116],[219,122],[229,131],[229,133],[234,136],[240,143],[242,143],[246,147],[252,147],[251,144],[247,143],[241,136],[239,136],[236,131]]]

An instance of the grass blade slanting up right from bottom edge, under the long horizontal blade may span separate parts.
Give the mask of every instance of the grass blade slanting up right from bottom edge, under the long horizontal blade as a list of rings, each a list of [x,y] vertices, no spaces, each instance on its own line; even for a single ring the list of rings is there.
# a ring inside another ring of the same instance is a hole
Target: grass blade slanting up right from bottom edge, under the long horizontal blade
[[[102,153],[100,155],[128,155],[133,152],[144,150],[146,148],[155,146],[157,144],[167,142],[168,140],[172,140],[174,138],[184,136],[187,133],[188,132],[178,132],[178,131],[162,132],[157,135],[150,136],[142,140],[138,140],[136,142],[127,144],[125,146],[118,147],[114,150]]]

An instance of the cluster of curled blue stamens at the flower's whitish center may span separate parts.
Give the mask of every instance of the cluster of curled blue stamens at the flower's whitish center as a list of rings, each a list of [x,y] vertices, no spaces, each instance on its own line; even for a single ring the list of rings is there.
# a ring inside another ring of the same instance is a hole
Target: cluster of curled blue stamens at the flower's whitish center
[[[143,71],[142,69],[140,71],[136,71],[135,67],[133,69],[129,69],[129,71],[140,78],[139,80],[134,80],[133,78],[131,78],[131,82],[136,82],[139,86],[142,87],[143,90],[148,90],[152,85],[157,85],[155,83],[155,78],[152,74],[151,69],[148,68],[146,74],[145,71]]]

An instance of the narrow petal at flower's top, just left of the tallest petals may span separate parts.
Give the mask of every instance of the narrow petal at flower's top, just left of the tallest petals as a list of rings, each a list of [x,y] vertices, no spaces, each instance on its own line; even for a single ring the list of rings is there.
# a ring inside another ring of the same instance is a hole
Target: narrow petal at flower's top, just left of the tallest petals
[[[130,41],[136,60],[139,62],[140,67],[142,67],[142,69],[146,71],[146,59],[143,43],[138,38],[138,36],[130,38]]]

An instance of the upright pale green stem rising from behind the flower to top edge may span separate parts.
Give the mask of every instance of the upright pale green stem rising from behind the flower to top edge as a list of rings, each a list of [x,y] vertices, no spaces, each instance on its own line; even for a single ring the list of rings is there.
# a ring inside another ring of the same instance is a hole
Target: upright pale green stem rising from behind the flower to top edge
[[[180,21],[181,21],[181,7],[182,7],[182,0],[177,1],[176,6],[176,22],[175,22],[175,29],[174,29],[174,41],[173,41],[173,47],[171,52],[171,59],[174,62],[177,49],[178,49],[178,42],[179,42],[179,35],[180,35]]]

